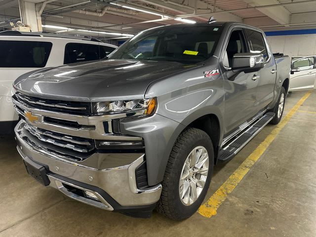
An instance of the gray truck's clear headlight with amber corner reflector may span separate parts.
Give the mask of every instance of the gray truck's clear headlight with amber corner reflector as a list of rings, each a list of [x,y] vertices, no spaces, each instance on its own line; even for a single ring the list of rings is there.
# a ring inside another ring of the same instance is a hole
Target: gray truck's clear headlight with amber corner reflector
[[[93,104],[95,114],[136,113],[152,115],[157,108],[156,98],[139,100],[119,100],[111,102],[97,102]]]

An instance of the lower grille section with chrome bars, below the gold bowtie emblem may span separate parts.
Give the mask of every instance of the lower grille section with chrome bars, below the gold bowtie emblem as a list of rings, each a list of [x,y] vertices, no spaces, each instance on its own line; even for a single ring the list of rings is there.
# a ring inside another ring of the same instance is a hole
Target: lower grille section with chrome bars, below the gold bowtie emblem
[[[92,139],[72,137],[57,132],[47,131],[24,123],[24,128],[41,142],[49,143],[58,147],[67,148],[80,153],[89,153],[95,149]]]

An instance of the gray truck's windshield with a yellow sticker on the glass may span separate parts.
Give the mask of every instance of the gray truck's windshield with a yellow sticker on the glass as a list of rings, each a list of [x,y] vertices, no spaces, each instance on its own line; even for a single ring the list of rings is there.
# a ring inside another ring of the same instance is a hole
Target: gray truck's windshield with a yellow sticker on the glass
[[[219,26],[179,26],[141,32],[110,59],[138,59],[197,63],[213,55],[221,35]]]

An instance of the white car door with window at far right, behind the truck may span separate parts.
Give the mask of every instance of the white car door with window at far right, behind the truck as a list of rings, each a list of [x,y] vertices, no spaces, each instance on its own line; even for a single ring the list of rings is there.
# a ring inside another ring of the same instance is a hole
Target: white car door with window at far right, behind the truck
[[[310,90],[316,80],[315,56],[292,58],[290,91]]]

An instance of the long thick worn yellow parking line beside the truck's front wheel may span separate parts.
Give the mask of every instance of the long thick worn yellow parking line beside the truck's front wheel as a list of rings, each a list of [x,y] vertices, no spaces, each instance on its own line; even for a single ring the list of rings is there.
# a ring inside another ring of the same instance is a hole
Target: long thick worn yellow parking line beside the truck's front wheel
[[[204,204],[202,204],[198,213],[204,217],[210,218],[216,215],[217,209],[225,201],[227,196],[233,192],[238,183],[248,173],[249,169],[256,163],[256,161],[262,156],[269,145],[276,138],[276,135],[285,126],[285,124],[292,118],[304,101],[311,95],[312,91],[307,92],[289,111],[289,113],[276,125],[276,128],[266,137],[266,139],[249,155],[234,171],[234,173],[225,181],[224,184],[210,197]]]

